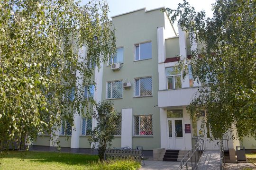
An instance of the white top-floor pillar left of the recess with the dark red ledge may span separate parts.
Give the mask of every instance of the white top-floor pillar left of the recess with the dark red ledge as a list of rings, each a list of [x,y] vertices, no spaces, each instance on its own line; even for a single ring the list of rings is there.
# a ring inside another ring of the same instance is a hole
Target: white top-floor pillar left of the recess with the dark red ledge
[[[158,63],[165,62],[165,28],[157,28]]]

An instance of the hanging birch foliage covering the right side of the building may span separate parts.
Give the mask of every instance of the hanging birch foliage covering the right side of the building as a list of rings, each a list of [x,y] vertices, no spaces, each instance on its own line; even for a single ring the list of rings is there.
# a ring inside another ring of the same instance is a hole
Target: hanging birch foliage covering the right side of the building
[[[184,0],[178,8],[166,8],[170,21],[188,32],[192,59],[184,59],[179,68],[201,82],[199,94],[187,107],[193,117],[207,110],[213,137],[222,138],[227,131],[237,129],[238,138],[256,138],[256,1],[216,0],[213,17],[196,12]],[[200,48],[199,48],[200,47]]]

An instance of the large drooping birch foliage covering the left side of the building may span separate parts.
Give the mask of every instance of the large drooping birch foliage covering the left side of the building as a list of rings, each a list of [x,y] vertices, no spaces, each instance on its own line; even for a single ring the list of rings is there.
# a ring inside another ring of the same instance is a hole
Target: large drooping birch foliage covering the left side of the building
[[[58,130],[61,118],[73,122],[73,113],[88,105],[76,73],[82,86],[90,85],[93,69],[86,63],[100,66],[116,48],[106,2],[79,4],[1,0],[0,150],[11,141]],[[85,59],[78,55],[82,45]]]

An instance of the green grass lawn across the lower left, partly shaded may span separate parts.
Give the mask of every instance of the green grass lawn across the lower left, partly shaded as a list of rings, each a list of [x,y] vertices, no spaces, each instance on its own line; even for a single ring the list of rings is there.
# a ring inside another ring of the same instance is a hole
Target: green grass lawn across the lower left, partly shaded
[[[99,162],[98,156],[73,153],[9,151],[0,170],[137,170],[135,161]]]

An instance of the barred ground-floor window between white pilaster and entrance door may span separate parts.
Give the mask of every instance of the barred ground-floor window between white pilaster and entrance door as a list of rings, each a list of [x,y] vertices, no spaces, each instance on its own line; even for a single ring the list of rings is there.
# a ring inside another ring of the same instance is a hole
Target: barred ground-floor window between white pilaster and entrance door
[[[134,135],[153,135],[152,115],[134,117]]]

